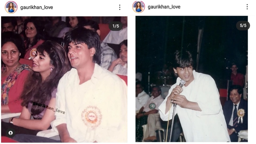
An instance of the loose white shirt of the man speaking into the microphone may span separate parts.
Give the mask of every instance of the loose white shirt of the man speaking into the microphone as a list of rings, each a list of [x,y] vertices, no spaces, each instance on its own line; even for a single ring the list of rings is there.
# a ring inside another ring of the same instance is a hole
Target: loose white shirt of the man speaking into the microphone
[[[183,133],[187,142],[230,142],[227,125],[219,92],[214,79],[207,74],[197,73],[193,70],[194,80],[187,86],[183,86],[180,95],[184,95],[188,101],[197,102],[202,111],[185,109],[177,105],[175,114],[178,114]],[[179,85],[181,78],[177,78],[176,84],[171,86],[169,94],[176,85]],[[159,106],[160,117],[164,121],[172,119],[173,106],[165,114],[166,101]]]

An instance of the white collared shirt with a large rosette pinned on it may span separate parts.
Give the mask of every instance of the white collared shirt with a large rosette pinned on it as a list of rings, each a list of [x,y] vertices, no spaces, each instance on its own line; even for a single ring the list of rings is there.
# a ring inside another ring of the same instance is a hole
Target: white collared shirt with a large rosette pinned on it
[[[60,79],[53,129],[66,123],[77,142],[127,142],[127,86],[117,75],[95,64],[91,79],[79,85],[72,68]]]

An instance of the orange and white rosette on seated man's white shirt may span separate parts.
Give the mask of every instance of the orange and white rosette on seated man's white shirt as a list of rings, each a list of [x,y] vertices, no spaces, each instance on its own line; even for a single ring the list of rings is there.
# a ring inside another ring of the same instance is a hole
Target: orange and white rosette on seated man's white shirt
[[[83,123],[89,129],[95,129],[96,127],[98,127],[101,124],[101,119],[101,111],[96,106],[88,106],[82,112]]]

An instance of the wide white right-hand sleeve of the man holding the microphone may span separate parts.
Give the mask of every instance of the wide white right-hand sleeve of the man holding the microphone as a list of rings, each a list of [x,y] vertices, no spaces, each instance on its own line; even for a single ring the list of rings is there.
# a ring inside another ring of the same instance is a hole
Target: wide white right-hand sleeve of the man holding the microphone
[[[201,81],[199,89],[197,103],[202,111],[197,111],[197,116],[218,114],[222,107],[214,79],[207,75]]]

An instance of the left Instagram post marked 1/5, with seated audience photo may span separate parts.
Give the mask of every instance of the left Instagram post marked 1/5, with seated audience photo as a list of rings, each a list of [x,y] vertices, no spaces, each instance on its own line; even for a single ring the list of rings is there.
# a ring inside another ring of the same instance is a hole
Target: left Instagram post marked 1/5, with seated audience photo
[[[127,142],[124,3],[1,3],[1,142]]]

